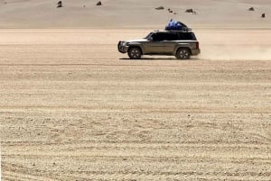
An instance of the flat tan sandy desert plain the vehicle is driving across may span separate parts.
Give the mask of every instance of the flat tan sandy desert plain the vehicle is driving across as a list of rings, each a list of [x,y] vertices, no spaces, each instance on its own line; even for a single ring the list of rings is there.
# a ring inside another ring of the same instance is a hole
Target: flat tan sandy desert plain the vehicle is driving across
[[[195,29],[185,61],[117,52],[149,31],[0,30],[3,180],[270,180],[271,31]]]

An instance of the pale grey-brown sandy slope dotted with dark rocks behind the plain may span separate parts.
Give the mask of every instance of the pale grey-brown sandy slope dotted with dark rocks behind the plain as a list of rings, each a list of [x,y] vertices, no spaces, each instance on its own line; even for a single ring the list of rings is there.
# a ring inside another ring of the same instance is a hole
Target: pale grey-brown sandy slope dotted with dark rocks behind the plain
[[[0,28],[164,28],[171,18],[193,27],[271,26],[267,0],[0,0]],[[164,10],[156,7],[164,6]],[[254,6],[255,12],[248,12]],[[170,8],[173,13],[169,13]],[[197,14],[186,14],[192,8]],[[266,13],[266,19],[260,14]]]

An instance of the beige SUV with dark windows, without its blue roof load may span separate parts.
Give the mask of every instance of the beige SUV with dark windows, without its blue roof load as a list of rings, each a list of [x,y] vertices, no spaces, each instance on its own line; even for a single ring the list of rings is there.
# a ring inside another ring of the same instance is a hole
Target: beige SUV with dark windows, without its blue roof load
[[[144,39],[119,41],[117,49],[128,53],[130,59],[142,55],[173,55],[177,59],[190,59],[201,53],[199,41],[192,31],[154,31]]]

